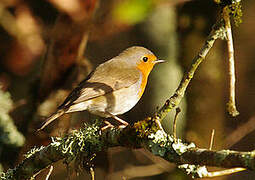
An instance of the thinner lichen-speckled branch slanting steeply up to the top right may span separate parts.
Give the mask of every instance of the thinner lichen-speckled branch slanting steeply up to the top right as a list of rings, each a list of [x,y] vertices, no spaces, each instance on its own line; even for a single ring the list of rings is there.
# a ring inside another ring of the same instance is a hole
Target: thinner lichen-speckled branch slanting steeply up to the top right
[[[242,22],[241,0],[232,0],[232,1],[215,0],[215,2],[220,4],[223,7],[226,6],[228,9],[230,9],[229,16],[233,17],[234,22],[237,26]],[[230,4],[226,2],[230,2]],[[207,37],[203,47],[199,51],[198,55],[195,56],[195,58],[192,60],[192,64],[189,70],[184,74],[182,81],[180,82],[175,93],[169,99],[167,99],[165,104],[159,109],[159,111],[154,114],[154,118],[158,119],[159,121],[162,121],[172,109],[174,109],[180,104],[185,94],[185,91],[191,79],[193,78],[198,66],[203,62],[203,60],[205,59],[210,49],[213,47],[214,42],[219,38],[227,39],[226,35],[227,35],[227,32],[225,28],[224,19],[222,17],[219,17],[219,20],[212,27],[212,30],[209,36]],[[232,91],[232,94],[233,92],[234,91]],[[235,111],[234,114],[238,114],[237,111]]]

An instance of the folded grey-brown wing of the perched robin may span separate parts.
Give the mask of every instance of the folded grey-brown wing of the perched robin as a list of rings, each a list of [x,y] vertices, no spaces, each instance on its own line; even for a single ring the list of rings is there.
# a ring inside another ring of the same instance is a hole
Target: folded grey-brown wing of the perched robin
[[[114,59],[100,65],[88,78],[82,81],[77,88],[66,98],[59,107],[69,107],[89,99],[102,96],[112,91],[127,88],[140,79],[140,73],[135,68],[129,68],[125,63]]]

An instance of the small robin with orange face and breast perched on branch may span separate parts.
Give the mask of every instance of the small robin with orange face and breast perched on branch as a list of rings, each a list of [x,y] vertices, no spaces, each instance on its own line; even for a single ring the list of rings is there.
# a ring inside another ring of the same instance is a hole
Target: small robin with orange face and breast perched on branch
[[[65,113],[84,111],[112,117],[124,127],[128,123],[117,115],[133,108],[144,93],[148,76],[159,60],[148,49],[133,46],[100,64],[69,94],[57,111],[38,130]]]

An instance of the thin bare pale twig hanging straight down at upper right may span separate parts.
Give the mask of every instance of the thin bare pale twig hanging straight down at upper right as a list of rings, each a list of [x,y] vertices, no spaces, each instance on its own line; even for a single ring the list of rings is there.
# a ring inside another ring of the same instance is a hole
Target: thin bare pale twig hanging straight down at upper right
[[[234,46],[233,46],[233,38],[232,38],[232,30],[229,16],[229,7],[226,6],[223,8],[223,19],[225,21],[226,28],[226,40],[228,45],[228,71],[229,71],[229,101],[227,103],[227,110],[230,115],[233,117],[237,116],[239,112],[236,109],[235,103],[235,59],[234,59]]]

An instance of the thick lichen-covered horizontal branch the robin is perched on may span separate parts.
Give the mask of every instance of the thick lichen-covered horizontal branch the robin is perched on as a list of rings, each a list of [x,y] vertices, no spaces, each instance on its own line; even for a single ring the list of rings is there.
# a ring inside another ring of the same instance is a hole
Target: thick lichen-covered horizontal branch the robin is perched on
[[[193,143],[183,143],[181,140],[175,143],[174,138],[159,130],[156,123],[148,125],[146,122],[148,121],[144,120],[144,123],[139,122],[125,129],[112,128],[103,132],[97,124],[93,124],[79,131],[73,131],[64,138],[53,138],[48,146],[29,152],[22,163],[2,174],[1,179],[28,179],[54,162],[59,160],[70,162],[80,155],[90,161],[93,154],[114,146],[146,148],[156,156],[182,165],[181,168],[185,166],[183,164],[192,164],[223,168],[243,167],[255,171],[255,151],[213,151],[196,148]],[[137,129],[139,126],[143,127]],[[147,128],[151,133],[144,133]],[[201,168],[197,168],[199,169],[201,171]]]

